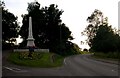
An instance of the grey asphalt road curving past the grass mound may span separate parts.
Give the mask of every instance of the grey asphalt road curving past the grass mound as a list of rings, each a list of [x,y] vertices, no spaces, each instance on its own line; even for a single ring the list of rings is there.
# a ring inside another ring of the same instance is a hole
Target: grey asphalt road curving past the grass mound
[[[3,55],[4,56],[4,55]],[[118,76],[118,65],[74,55],[64,59],[57,68],[30,68],[8,63],[3,59],[3,76]]]

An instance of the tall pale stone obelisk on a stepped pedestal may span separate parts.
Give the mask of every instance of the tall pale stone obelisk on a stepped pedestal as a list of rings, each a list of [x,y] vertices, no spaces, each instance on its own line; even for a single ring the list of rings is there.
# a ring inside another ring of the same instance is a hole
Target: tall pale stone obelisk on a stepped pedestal
[[[29,33],[28,33],[28,39],[27,39],[27,47],[35,47],[33,33],[32,33],[32,18],[29,17]]]

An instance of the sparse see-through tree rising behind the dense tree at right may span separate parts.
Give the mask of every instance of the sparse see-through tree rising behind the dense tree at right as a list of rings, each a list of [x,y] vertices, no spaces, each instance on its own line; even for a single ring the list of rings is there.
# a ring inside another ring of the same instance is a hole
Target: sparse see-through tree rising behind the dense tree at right
[[[96,32],[100,25],[107,21],[107,17],[104,18],[103,13],[100,10],[95,9],[94,12],[87,18],[88,26],[85,28],[83,35],[87,35],[87,43],[91,47],[92,40],[96,35]]]

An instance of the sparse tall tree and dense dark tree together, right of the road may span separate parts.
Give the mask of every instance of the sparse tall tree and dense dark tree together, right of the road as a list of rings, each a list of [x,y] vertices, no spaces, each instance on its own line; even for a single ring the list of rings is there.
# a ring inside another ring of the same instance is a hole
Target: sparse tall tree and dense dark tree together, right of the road
[[[87,18],[89,25],[82,32],[88,36],[87,42],[90,49],[95,52],[120,51],[120,36],[108,24],[108,18],[104,17],[100,10],[95,11]]]

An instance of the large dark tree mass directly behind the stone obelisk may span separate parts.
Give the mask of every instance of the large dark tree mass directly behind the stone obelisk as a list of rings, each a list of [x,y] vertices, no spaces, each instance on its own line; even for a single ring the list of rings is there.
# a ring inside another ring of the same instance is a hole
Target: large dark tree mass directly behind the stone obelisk
[[[58,52],[73,37],[69,28],[62,23],[60,16],[63,11],[58,9],[57,5],[51,4],[49,7],[40,8],[38,2],[28,4],[28,14],[22,15],[23,25],[19,34],[23,38],[21,46],[25,47],[28,37],[28,18],[32,17],[33,36],[35,44],[39,48],[49,48],[52,52]]]

